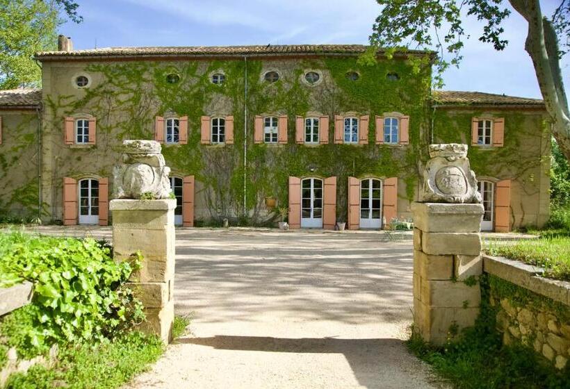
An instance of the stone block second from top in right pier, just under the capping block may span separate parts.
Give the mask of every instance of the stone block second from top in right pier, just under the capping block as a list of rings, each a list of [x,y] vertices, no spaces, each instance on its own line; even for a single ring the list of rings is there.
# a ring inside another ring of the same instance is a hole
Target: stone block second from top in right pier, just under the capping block
[[[481,254],[479,233],[437,233],[422,232],[422,251],[431,255],[469,255]]]

